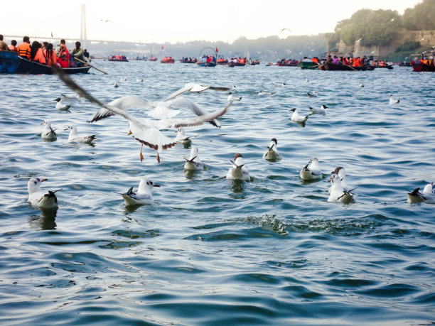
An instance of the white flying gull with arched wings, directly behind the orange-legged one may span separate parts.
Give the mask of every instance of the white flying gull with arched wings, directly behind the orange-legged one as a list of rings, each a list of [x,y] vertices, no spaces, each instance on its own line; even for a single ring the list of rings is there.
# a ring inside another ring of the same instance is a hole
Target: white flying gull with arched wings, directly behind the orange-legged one
[[[171,99],[167,102],[149,102],[146,99],[141,99],[140,97],[136,97],[134,95],[128,95],[124,97],[119,97],[119,99],[114,99],[112,102],[109,102],[107,105],[111,107],[115,107],[117,109],[121,109],[122,111],[127,111],[129,109],[149,109],[151,110],[148,114],[156,119],[171,119],[179,111],[168,109],[168,107],[181,107],[185,109],[189,109],[193,114],[197,116],[203,116],[205,114],[210,114],[208,110],[200,107],[199,104],[193,102],[186,97],[178,97],[176,99]],[[109,116],[113,116],[114,113],[102,107],[95,114],[93,114],[87,122],[95,122]],[[213,126],[220,128],[220,122],[217,119],[213,119],[208,121]]]

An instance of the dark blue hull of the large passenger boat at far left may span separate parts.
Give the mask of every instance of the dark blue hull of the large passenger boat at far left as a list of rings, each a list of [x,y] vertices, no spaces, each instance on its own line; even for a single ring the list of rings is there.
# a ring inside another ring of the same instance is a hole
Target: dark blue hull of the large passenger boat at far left
[[[60,68],[67,74],[87,73],[90,66]],[[49,65],[43,65],[36,61],[20,57],[12,51],[0,51],[0,73],[3,74],[31,74],[31,75],[52,75],[53,69]]]

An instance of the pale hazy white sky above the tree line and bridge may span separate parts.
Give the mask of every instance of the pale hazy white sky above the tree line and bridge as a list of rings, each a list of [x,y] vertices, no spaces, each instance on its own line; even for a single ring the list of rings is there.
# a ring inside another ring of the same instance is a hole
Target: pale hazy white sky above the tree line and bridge
[[[400,14],[421,0],[364,1],[1,1],[0,33],[79,38],[81,4],[86,4],[87,38],[141,43],[189,40],[232,42],[240,36],[313,35],[362,8]],[[329,5],[326,5],[329,4]],[[107,23],[102,20],[109,21]],[[283,28],[289,31],[281,32]]]

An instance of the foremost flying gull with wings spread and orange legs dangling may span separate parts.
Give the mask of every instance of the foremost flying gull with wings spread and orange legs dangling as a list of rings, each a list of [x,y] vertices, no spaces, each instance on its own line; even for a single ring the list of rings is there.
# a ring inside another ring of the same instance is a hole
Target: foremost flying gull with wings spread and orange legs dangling
[[[65,85],[73,89],[77,94],[81,97],[85,97],[88,101],[93,104],[97,104],[104,109],[107,109],[114,114],[118,114],[122,116],[124,119],[129,121],[130,131],[129,134],[134,134],[134,139],[141,143],[141,151],[140,158],[143,161],[144,156],[142,155],[142,147],[144,145],[149,146],[149,148],[153,148],[157,151],[157,161],[160,162],[159,153],[162,150],[171,148],[176,145],[175,139],[168,138],[163,135],[159,128],[172,128],[178,129],[180,127],[186,126],[199,126],[203,124],[205,121],[211,121],[213,119],[218,119],[219,116],[222,116],[227,112],[227,109],[232,106],[232,102],[227,104],[226,107],[220,109],[218,111],[212,112],[210,114],[204,114],[202,116],[196,116],[194,118],[185,118],[185,119],[163,119],[160,121],[151,121],[149,119],[136,119],[131,114],[122,111],[121,109],[117,109],[116,107],[112,107],[109,104],[104,104],[100,100],[92,97],[91,94],[87,93],[85,89],[82,89],[79,85],[77,85],[74,80],[71,79],[70,76],[66,75],[65,72],[59,69],[53,69],[56,74],[58,74],[60,80],[62,80]]]

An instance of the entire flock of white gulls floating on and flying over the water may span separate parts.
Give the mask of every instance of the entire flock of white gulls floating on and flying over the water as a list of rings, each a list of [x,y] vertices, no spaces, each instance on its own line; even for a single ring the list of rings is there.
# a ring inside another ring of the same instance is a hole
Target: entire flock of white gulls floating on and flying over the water
[[[65,85],[70,87],[70,89],[73,89],[73,91],[78,94],[78,97],[67,97],[66,95],[62,94],[62,98],[55,99],[55,101],[57,102],[56,109],[67,110],[70,108],[70,105],[66,104],[65,101],[71,99],[75,100],[85,98],[100,107],[100,109],[95,112],[95,114],[92,114],[87,122],[99,121],[115,114],[122,116],[124,119],[127,119],[127,121],[129,121],[129,134],[133,134],[134,139],[141,143],[141,151],[139,153],[141,161],[144,159],[144,156],[142,154],[142,148],[144,145],[154,149],[157,152],[157,161],[159,162],[159,153],[161,153],[161,151],[171,148],[177,143],[181,143],[184,146],[190,146],[190,138],[192,138],[192,136],[186,136],[183,129],[184,127],[199,126],[204,122],[209,122],[213,126],[220,127],[220,122],[218,121],[218,118],[225,114],[234,102],[240,101],[242,99],[242,97],[235,97],[231,92],[229,92],[227,100],[230,103],[227,104],[223,109],[218,109],[217,111],[210,113],[203,107],[200,107],[198,104],[191,101],[190,99],[178,96],[185,92],[199,93],[204,92],[207,89],[229,91],[234,87],[214,87],[211,85],[188,83],[181,89],[178,89],[178,91],[170,94],[162,102],[149,102],[134,95],[129,95],[114,99],[108,104],[104,104],[100,100],[93,97],[91,94],[87,93],[64,72],[56,70],[56,73],[58,74],[60,79],[65,82]],[[263,92],[260,90],[258,94],[273,95],[274,92]],[[308,97],[316,97],[315,93],[308,92],[307,94]],[[390,95],[390,104],[396,103],[399,103],[399,99],[393,99],[392,95]],[[179,113],[179,110],[173,109],[173,107],[190,109],[190,111],[195,114],[195,117],[175,119],[174,116]],[[156,120],[136,118],[135,116],[127,113],[127,110],[133,108],[148,109],[149,116],[155,118]],[[311,111],[311,114],[326,114],[327,108],[328,107],[326,107],[326,105],[321,105],[321,107],[319,108],[308,107],[308,109],[310,109]],[[308,119],[308,115],[304,116],[299,114],[296,108],[291,109],[290,111],[293,112],[293,114],[291,115],[291,121],[299,124],[304,124],[305,121]],[[55,140],[57,135],[55,133],[55,129],[52,128],[50,121],[45,120],[43,121],[43,124],[45,125],[45,127],[43,129],[43,132],[41,133],[41,137],[48,140]],[[161,129],[176,129],[176,138],[168,138],[161,132]],[[77,127],[73,125],[68,126],[68,128],[65,130],[70,130],[70,135],[68,137],[69,143],[92,143],[92,141],[94,141],[96,138],[95,135],[82,137],[78,136]],[[267,146],[267,151],[263,155],[263,158],[265,160],[279,161],[282,159],[281,153],[279,153],[278,151],[277,144],[278,141],[276,140],[276,138],[272,138],[269,146]],[[184,164],[185,170],[204,169],[204,165],[200,160],[198,152],[198,147],[193,146],[191,148],[190,157],[186,159],[186,163]],[[226,178],[228,180],[251,180],[249,170],[245,165],[242,154],[235,153],[234,161],[230,161],[232,163],[232,166],[227,171]],[[308,164],[306,164],[304,168],[301,169],[299,176],[302,180],[305,181],[319,180],[323,178],[323,172],[321,170],[318,158],[311,158]],[[28,202],[39,209],[53,209],[58,207],[55,192],[58,192],[60,189],[48,192],[45,190],[41,190],[41,183],[43,183],[45,180],[47,179],[31,178],[30,180],[28,180]],[[331,187],[328,189],[328,202],[349,203],[353,201],[352,191],[355,188],[349,187],[346,180],[345,168],[341,166],[335,168],[335,170],[331,172],[331,178],[329,181],[331,182]],[[125,205],[152,204],[154,200],[151,190],[154,187],[160,187],[160,185],[153,183],[153,181],[149,180],[149,178],[142,178],[140,180],[137,192],[134,192],[133,187],[131,187],[127,192],[120,195],[122,195],[122,197],[124,198]],[[419,189],[420,188],[417,188],[413,191],[408,191],[409,203],[435,203],[433,183],[429,183],[428,185],[426,185],[423,192],[420,192]]]

